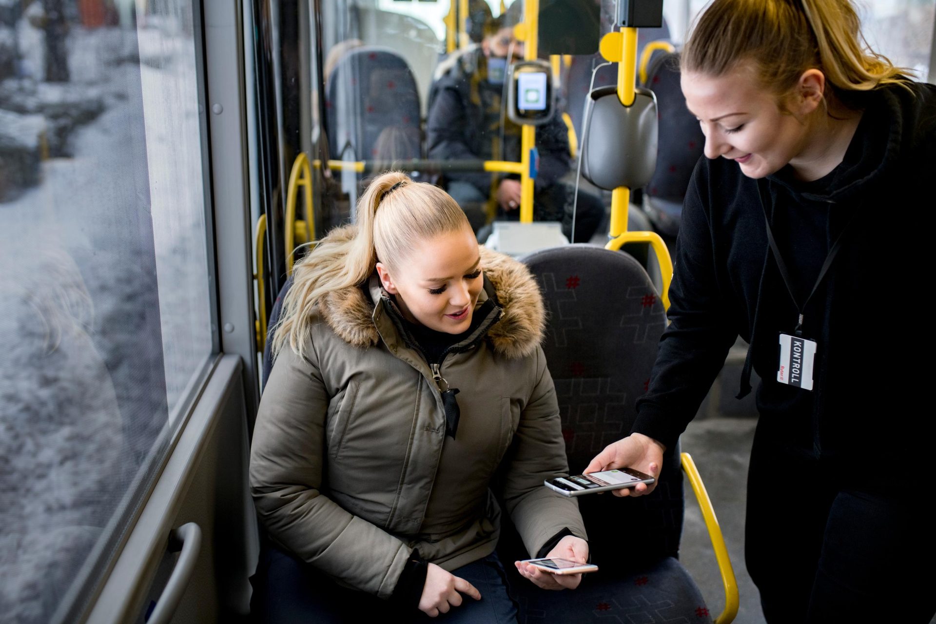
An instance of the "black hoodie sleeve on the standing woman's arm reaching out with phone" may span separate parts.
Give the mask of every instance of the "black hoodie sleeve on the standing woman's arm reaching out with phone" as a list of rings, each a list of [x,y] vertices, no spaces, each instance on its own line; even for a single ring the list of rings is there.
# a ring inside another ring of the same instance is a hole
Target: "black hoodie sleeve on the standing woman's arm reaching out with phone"
[[[660,339],[649,391],[637,399],[632,432],[673,448],[693,419],[738,337],[734,312],[717,278],[715,237],[708,192],[709,164],[695,167],[682,209],[670,325]],[[724,261],[724,259],[723,259]]]

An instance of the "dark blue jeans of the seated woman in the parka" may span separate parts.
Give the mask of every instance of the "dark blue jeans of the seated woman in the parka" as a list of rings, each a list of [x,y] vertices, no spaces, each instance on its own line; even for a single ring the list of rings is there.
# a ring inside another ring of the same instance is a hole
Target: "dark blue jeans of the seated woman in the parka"
[[[452,572],[475,586],[481,600],[462,594],[461,606],[439,617],[428,617],[416,608],[403,609],[394,602],[344,588],[301,559],[267,544],[260,553],[256,574],[251,576],[254,595],[252,621],[269,624],[292,622],[445,622],[447,624],[515,624],[517,603],[507,593],[504,567],[496,554],[461,566]]]

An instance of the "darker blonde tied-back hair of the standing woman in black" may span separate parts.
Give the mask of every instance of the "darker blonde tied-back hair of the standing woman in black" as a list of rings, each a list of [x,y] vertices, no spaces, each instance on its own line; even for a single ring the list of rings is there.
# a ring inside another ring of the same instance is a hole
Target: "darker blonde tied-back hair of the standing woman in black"
[[[721,76],[745,61],[775,94],[811,68],[845,96],[909,82],[909,69],[870,50],[850,0],[715,0],[686,42],[682,69]]]

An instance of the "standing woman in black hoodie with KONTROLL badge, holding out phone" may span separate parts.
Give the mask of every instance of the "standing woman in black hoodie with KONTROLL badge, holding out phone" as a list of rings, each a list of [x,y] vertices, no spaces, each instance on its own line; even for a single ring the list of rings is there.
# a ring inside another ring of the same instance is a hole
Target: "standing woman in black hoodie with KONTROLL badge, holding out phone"
[[[934,555],[917,364],[931,341],[913,307],[929,286],[936,88],[869,51],[859,26],[848,0],[715,0],[700,17],[681,80],[706,158],[671,325],[631,435],[588,469],[658,472],[728,348],[750,342],[741,395],[752,365],[763,382],[745,556],[769,622],[936,612],[918,565]]]

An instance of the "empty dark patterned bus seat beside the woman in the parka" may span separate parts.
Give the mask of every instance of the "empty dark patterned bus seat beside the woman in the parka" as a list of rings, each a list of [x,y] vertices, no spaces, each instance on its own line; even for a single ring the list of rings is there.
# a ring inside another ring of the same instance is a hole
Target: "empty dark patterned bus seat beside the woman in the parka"
[[[636,398],[650,383],[664,306],[628,254],[567,245],[530,254],[524,262],[548,307],[543,349],[556,385],[569,470],[579,473],[630,431]],[[677,559],[684,510],[679,448],[668,449],[651,495],[590,495],[578,503],[600,571],[573,592],[557,592],[536,588],[507,566],[520,595],[520,621],[533,614],[576,622],[711,621]],[[505,560],[527,559],[512,527],[505,527],[499,547]]]

